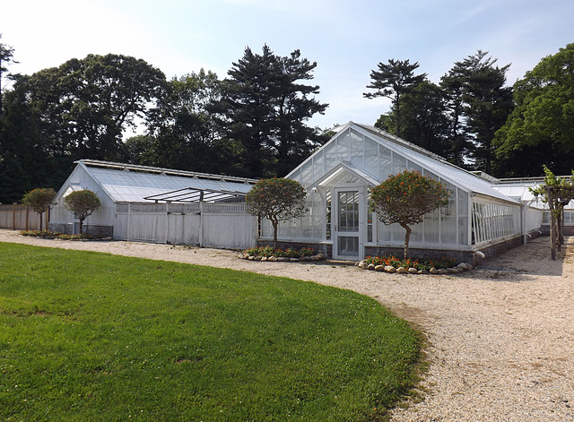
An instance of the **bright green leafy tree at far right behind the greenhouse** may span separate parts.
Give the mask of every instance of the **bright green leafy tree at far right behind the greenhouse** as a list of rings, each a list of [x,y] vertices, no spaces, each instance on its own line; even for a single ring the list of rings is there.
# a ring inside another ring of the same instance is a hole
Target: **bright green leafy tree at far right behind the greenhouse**
[[[539,176],[543,165],[570,174],[574,162],[574,44],[544,57],[514,84],[516,108],[494,145],[510,176]]]

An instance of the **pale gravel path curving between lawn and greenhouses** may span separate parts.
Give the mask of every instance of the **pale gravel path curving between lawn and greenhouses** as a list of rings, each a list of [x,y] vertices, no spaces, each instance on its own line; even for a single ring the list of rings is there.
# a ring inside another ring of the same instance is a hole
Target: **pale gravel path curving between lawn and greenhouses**
[[[217,249],[66,242],[0,229],[0,242],[197,263],[310,280],[375,297],[427,336],[424,400],[393,421],[574,421],[574,237],[548,237],[470,272],[421,276],[335,263],[261,263]],[[2,257],[0,256],[0,261]]]

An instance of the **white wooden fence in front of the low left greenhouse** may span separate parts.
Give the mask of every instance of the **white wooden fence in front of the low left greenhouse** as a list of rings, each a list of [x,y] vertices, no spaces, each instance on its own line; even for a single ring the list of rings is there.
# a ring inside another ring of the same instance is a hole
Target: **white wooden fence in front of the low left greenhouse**
[[[114,238],[172,245],[246,249],[257,219],[245,203],[118,203]]]

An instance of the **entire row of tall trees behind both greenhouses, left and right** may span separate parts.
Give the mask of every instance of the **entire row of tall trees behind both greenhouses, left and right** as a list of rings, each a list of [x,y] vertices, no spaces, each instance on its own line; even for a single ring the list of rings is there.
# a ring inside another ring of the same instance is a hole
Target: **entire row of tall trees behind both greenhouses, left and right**
[[[435,84],[418,63],[388,60],[365,97],[386,96],[376,125],[457,165],[494,176],[539,176],[574,162],[574,45],[506,86],[509,65],[479,51]],[[0,81],[13,49],[0,43]],[[0,96],[0,202],[58,189],[78,159],[103,159],[243,177],[284,176],[328,139],[309,127],[327,105],[317,63],[295,50],[249,47],[225,79],[201,70],[168,81],[130,56],[90,55],[32,75],[10,75]],[[3,84],[4,86],[4,84]],[[364,122],[370,123],[370,122]],[[374,122],[373,122],[374,123]],[[126,131],[144,134],[125,140]]]

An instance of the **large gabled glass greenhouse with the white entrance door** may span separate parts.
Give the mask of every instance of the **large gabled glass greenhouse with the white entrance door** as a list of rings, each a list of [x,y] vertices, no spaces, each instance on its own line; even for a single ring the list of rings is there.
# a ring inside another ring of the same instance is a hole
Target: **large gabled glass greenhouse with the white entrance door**
[[[541,227],[542,206],[504,194],[494,187],[496,179],[458,168],[373,126],[350,122],[287,175],[307,189],[308,213],[283,222],[279,239],[285,245],[314,245],[344,260],[400,251],[404,228],[380,222],[368,200],[370,188],[404,170],[439,180],[450,193],[447,207],[413,227],[413,256],[474,260],[478,251],[483,256],[519,245]],[[272,237],[271,226],[264,224],[261,239]]]

